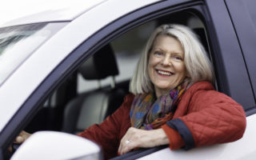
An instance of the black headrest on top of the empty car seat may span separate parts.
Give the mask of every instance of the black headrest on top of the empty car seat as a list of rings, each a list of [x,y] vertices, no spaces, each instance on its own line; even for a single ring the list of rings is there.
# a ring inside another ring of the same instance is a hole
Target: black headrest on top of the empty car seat
[[[118,66],[110,45],[98,50],[80,66],[78,72],[86,79],[103,79],[118,75]]]

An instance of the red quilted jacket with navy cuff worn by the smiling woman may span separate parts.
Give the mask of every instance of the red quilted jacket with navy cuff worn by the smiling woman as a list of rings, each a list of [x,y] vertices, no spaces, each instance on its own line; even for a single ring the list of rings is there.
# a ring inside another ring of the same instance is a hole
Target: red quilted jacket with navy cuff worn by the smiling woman
[[[119,142],[130,127],[130,106],[134,95],[128,94],[122,106],[100,125],[90,126],[79,136],[102,146],[105,158],[117,155]],[[170,149],[233,142],[242,138],[246,114],[237,102],[214,90],[210,82],[197,82],[182,95],[174,118],[162,126],[170,140]],[[226,134],[229,133],[229,134]]]

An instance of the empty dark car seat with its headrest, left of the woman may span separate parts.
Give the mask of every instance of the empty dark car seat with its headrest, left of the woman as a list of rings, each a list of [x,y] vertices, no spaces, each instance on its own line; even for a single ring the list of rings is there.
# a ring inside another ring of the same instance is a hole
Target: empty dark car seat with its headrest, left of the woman
[[[121,106],[125,91],[115,87],[118,66],[110,45],[103,47],[80,66],[78,73],[87,80],[112,77],[111,87],[98,88],[68,102],[64,110],[62,131],[76,134],[94,123],[102,122]]]

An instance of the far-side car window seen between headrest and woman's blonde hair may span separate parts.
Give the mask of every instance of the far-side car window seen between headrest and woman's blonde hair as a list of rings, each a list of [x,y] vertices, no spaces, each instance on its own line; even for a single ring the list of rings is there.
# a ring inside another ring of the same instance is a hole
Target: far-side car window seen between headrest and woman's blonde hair
[[[115,76],[116,82],[130,80],[132,74],[134,74],[138,58],[146,45],[146,40],[150,36],[149,33],[154,30],[156,25],[155,21],[148,22],[134,28],[134,30],[128,31],[126,34],[122,34],[122,36],[110,42],[110,46],[114,51],[118,63],[119,74]],[[111,81],[111,78],[105,78],[101,80],[100,83],[101,86],[108,86]],[[97,88],[98,81],[86,80],[82,78],[81,74],[78,74],[78,93]]]

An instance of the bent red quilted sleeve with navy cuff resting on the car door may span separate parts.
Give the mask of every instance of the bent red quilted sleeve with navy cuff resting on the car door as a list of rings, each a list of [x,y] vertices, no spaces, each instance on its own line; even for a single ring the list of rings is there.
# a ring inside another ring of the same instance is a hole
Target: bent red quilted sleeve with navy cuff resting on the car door
[[[246,114],[242,106],[226,94],[198,90],[190,99],[187,114],[170,120],[166,126],[162,128],[173,143],[170,148],[184,146],[189,150],[242,138],[246,129]],[[168,130],[174,130],[173,134],[168,135]],[[181,138],[175,138],[174,134],[179,134]]]

